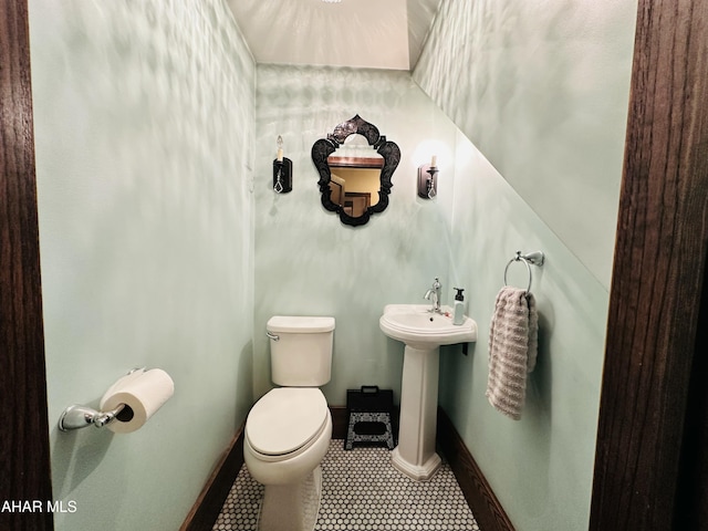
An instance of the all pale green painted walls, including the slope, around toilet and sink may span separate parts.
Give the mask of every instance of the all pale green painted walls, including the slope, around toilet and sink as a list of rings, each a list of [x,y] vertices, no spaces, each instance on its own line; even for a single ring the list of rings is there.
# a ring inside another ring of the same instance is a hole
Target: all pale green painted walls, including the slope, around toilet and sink
[[[586,529],[636,2],[529,3],[444,0],[412,76],[256,66],[217,0],[30,1],[50,418],[97,406],[133,366],[176,385],[135,434],[50,427],[55,496],[77,507],[58,530],[179,525],[271,387],[271,315],[336,319],[331,405],[363,384],[398,399],[403,345],[378,317],[435,277],[444,303],[466,288],[480,335],[468,356],[444,348],[441,405],[517,529]],[[403,155],[389,207],[358,228],[322,208],[310,158],[355,114]],[[439,194],[423,200],[431,155]],[[546,264],[512,421],[485,387],[517,249]]]

